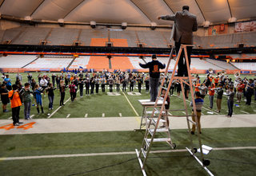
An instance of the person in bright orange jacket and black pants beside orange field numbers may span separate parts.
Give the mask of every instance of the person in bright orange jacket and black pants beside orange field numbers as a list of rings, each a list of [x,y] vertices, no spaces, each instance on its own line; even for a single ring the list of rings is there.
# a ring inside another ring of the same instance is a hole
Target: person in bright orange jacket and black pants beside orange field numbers
[[[20,99],[21,94],[18,91],[18,85],[13,84],[12,88],[13,90],[9,92],[10,108],[12,111],[14,126],[19,126],[20,123],[23,123],[19,121],[19,111],[20,111],[20,107],[22,106],[22,102]]]

